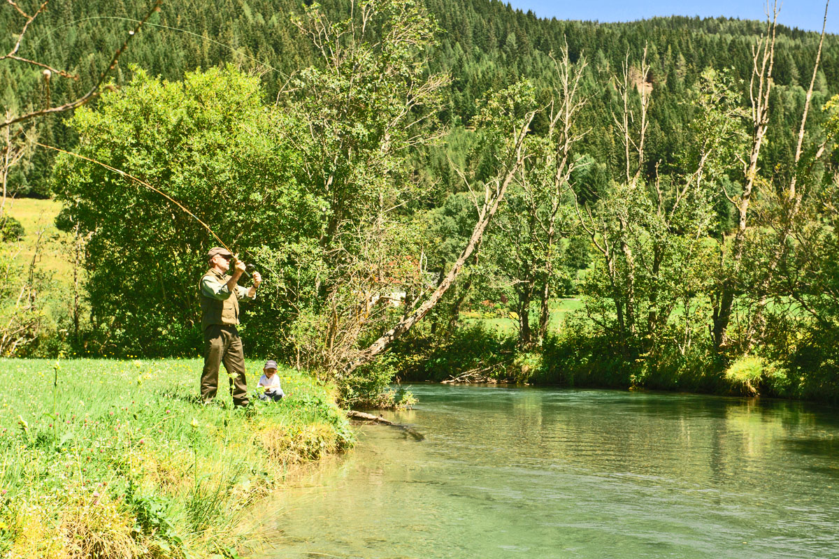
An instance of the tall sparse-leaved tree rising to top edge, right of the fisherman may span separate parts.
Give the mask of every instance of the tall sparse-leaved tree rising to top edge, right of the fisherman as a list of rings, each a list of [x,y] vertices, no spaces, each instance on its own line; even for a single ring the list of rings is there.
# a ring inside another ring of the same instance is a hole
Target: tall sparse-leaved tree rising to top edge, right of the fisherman
[[[317,270],[294,292],[291,341],[302,365],[336,375],[396,316],[389,302],[409,307],[429,289],[421,224],[406,211],[420,194],[408,163],[436,136],[448,77],[428,70],[439,28],[416,3],[360,3],[337,21],[312,5],[294,23],[319,58],[278,108],[305,123],[297,174],[322,203],[303,250],[263,258]]]

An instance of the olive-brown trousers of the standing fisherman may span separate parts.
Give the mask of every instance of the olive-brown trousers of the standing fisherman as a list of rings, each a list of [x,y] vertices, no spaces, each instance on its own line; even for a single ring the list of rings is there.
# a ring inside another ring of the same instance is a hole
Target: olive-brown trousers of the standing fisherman
[[[248,381],[245,379],[245,355],[242,339],[235,326],[210,324],[204,330],[204,372],[201,373],[201,400],[204,403],[216,397],[218,367],[230,376],[230,392],[234,406],[248,405]]]

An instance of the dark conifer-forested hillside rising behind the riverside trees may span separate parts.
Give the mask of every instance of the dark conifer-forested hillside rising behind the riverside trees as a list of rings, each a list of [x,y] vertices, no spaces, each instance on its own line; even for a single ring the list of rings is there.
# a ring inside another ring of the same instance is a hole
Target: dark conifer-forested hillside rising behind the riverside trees
[[[440,25],[439,41],[430,56],[430,70],[451,74],[450,96],[440,120],[452,126],[469,126],[476,113],[476,102],[487,91],[500,90],[514,81],[528,78],[547,99],[555,83],[551,53],[559,52],[567,42],[571,60],[585,55],[589,60],[591,101],[581,116],[581,126],[591,130],[583,140],[584,151],[610,173],[620,164],[613,149],[613,122],[609,107],[614,96],[607,83],[620,72],[625,60],[633,65],[648,49],[652,86],[650,128],[648,132],[648,173],[654,164],[678,166],[677,154],[683,150],[685,127],[691,109],[687,98],[702,70],[708,67],[730,72],[732,80],[748,84],[752,71],[752,46],[765,23],[727,18],[654,18],[636,23],[591,23],[546,20],[532,13],[513,10],[504,3],[465,0],[446,3],[424,0],[425,6]],[[327,0],[326,13],[335,16],[349,11],[349,3]],[[21,46],[20,54],[33,60],[48,60],[50,65],[78,75],[79,80],[53,80],[54,101],[72,98],[86,91],[107,66],[113,52],[148,9],[143,3],[71,2],[54,0],[48,10],[33,23]],[[786,9],[786,8],[784,8]],[[791,8],[789,8],[791,9]],[[164,3],[138,38],[133,41],[114,74],[117,84],[127,83],[136,64],[149,75],[180,80],[189,70],[207,69],[232,63],[248,72],[262,75],[268,99],[287,83],[295,70],[315,63],[315,51],[291,22],[302,4],[292,0],[242,0],[242,2]],[[12,8],[0,11],[0,27],[16,29],[20,17]],[[3,38],[8,50],[13,37]],[[797,29],[778,28],[775,55],[773,119],[770,142],[763,151],[765,167],[783,165],[795,149],[795,135],[803,88],[810,79],[816,54],[818,34]],[[642,76],[633,76],[641,80]],[[839,91],[839,40],[826,37],[824,60],[816,82],[817,99]],[[40,71],[25,65],[0,65],[0,94],[3,106],[23,111],[26,106],[44,102]],[[745,95],[745,91],[743,91]],[[817,103],[818,104],[818,103]],[[818,118],[816,111],[814,118]],[[44,123],[42,138],[60,146],[74,142],[72,132],[50,118]],[[539,122],[536,123],[537,126]],[[542,122],[541,126],[544,126]],[[47,161],[44,161],[46,159]],[[51,156],[39,153],[25,168],[18,168],[9,185],[12,192],[24,195],[48,195],[47,178]],[[433,162],[435,175],[448,183],[445,158]],[[588,180],[602,186],[606,176]],[[451,184],[447,184],[449,189]]]

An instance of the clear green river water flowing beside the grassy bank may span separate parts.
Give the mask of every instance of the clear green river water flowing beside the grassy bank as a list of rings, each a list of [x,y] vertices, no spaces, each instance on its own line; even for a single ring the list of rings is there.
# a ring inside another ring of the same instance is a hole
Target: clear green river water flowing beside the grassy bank
[[[411,386],[279,494],[273,557],[839,557],[839,414],[799,402]]]

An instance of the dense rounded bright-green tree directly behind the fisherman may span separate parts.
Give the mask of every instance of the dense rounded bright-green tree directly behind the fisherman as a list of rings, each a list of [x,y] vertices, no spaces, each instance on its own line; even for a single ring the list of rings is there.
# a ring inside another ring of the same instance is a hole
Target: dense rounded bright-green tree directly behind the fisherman
[[[206,250],[219,243],[210,230],[246,258],[261,246],[316,235],[318,200],[294,178],[294,150],[277,133],[295,123],[262,98],[258,79],[229,68],[191,73],[183,82],[135,69],[131,85],[71,119],[82,158],[59,159],[59,225],[78,224],[90,236],[86,287],[108,348],[144,355],[194,350],[196,282]]]

